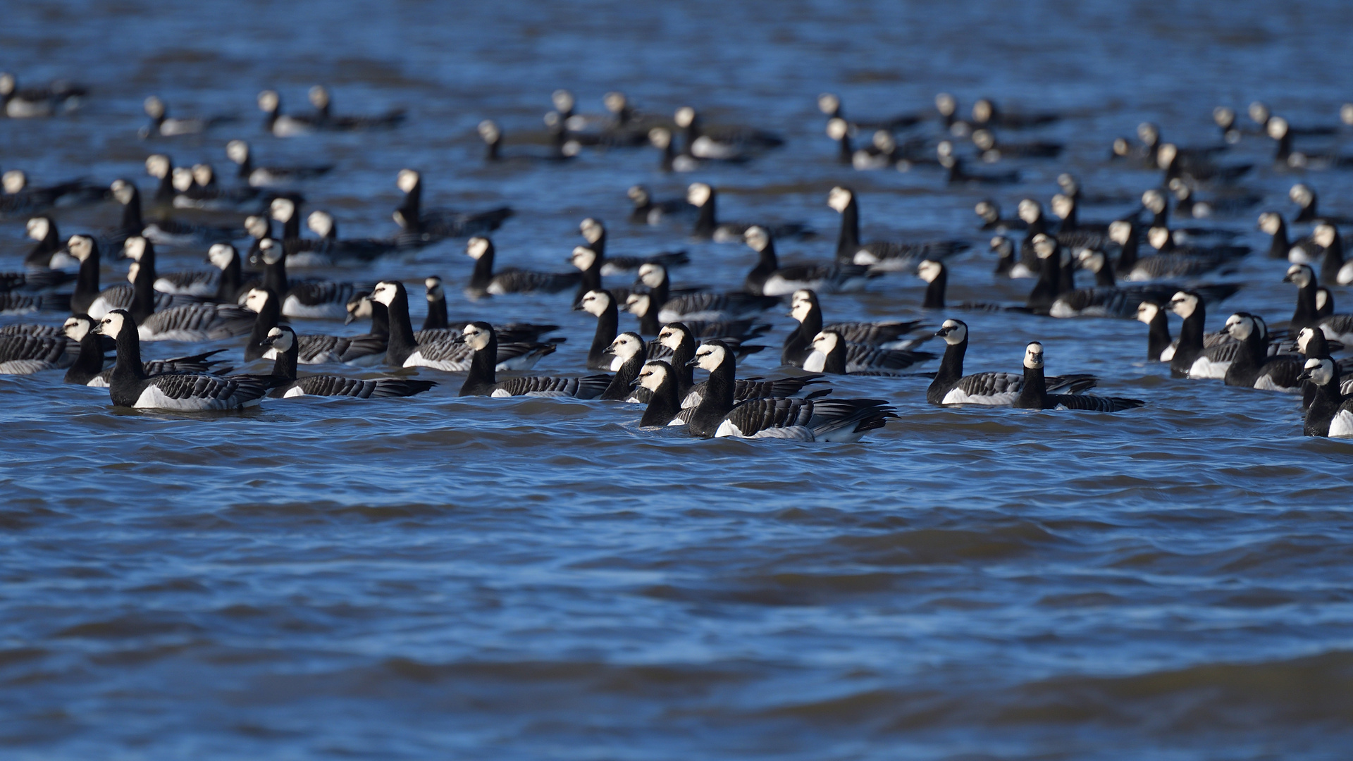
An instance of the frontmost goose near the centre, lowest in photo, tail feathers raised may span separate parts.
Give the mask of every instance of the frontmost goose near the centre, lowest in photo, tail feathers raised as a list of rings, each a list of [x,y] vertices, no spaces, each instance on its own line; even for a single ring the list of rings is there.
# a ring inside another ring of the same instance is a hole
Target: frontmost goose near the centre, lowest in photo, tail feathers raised
[[[882,428],[893,408],[881,399],[789,399],[758,397],[737,402],[733,352],[721,341],[697,349],[690,364],[709,371],[705,395],[686,429],[705,439],[792,439],[797,441],[858,441]]]

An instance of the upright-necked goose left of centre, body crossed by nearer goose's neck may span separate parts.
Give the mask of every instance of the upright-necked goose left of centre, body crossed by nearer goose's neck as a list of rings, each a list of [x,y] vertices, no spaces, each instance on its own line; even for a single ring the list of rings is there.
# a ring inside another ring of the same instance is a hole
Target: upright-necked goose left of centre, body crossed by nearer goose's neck
[[[430,367],[446,372],[463,372],[472,366],[474,348],[461,336],[426,336],[418,343],[409,318],[409,292],[398,280],[382,280],[371,292],[373,302],[384,305],[388,314],[390,343],[386,364],[395,367]],[[372,320],[375,322],[375,320]],[[372,330],[375,333],[375,330]],[[553,353],[556,344],[514,341],[498,344],[499,370],[530,370],[540,357]]]

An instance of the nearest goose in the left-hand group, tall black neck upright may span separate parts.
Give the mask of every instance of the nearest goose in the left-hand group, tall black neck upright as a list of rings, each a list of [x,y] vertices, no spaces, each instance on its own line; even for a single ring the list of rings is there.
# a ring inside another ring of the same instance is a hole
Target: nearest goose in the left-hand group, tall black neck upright
[[[137,322],[124,309],[106,314],[95,332],[118,341],[118,362],[108,379],[108,397],[115,406],[185,412],[239,409],[257,405],[268,391],[265,383],[250,378],[192,372],[146,375]]]

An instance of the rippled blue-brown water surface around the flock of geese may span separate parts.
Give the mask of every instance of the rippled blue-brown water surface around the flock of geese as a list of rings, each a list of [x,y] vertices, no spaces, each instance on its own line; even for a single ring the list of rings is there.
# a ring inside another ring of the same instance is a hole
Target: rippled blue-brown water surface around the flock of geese
[[[1046,202],[1065,169],[1092,194],[1155,184],[1105,161],[1143,119],[1210,144],[1219,103],[1261,97],[1295,123],[1333,125],[1353,97],[1353,9],[1334,1],[127,0],[4,15],[4,69],[92,89],[74,115],[0,121],[3,168],[39,183],[129,176],[149,190],[147,153],[222,169],[225,141],[248,137],[265,162],[336,162],[303,190],[348,236],[388,234],[395,172],[418,167],[429,204],[518,210],[495,236],[502,263],[567,268],[578,221],[594,215],[613,253],[683,246],[695,265],[678,283],[727,287],[750,251],[628,225],[625,188],[670,198],[708,180],[728,218],[810,222],[824,234],[781,253],[825,259],[838,223],[825,195],[850,183],[866,237],[973,240],[953,263],[954,302],[1019,302],[1030,286],[990,274],[971,214],[986,191],[934,169],[840,167],[819,92],[862,116],[930,110],[942,89],[962,108],[993,95],[1072,114],[1040,133],[1069,144],[1065,160],[1022,164],[1026,181],[996,194],[1009,210]],[[340,112],[405,106],[409,123],[264,135],[254,95],[276,87],[300,110],[317,81]],[[538,139],[556,87],[586,112],[622,89],[789,144],[693,176],[660,175],[649,149],[486,167],[475,125],[492,116],[509,141]],[[139,141],[150,93],[180,115],[241,121]],[[1235,152],[1260,165],[1246,179],[1260,209],[1289,214],[1287,188],[1306,180],[1353,213],[1348,175],[1275,171],[1256,138]],[[1220,223],[1262,249],[1256,213]],[[58,214],[65,234],[115,218],[111,204]],[[338,275],[459,284],[461,246]],[[22,219],[0,222],[0,267],[20,267],[26,248]],[[202,256],[166,249],[160,267]],[[104,280],[124,268],[110,263]],[[1281,322],[1284,269],[1246,260],[1245,290],[1210,329],[1231,309]],[[538,370],[582,370],[594,322],[566,297],[448,291],[453,316],[561,325],[568,343]],[[898,274],[824,306],[829,320],[935,325],[946,313],[919,310],[921,292]],[[1353,306],[1346,288],[1335,298]],[[773,349],[748,374],[774,372],[790,320],[771,317]],[[1300,436],[1291,397],[1170,379],[1142,360],[1138,322],[965,318],[973,370],[1015,370],[1042,340],[1050,371],[1095,372],[1147,406],[935,409],[925,379],[851,378],[838,395],[890,399],[901,417],[861,444],[796,444],[645,432],[610,402],[459,399],[459,376],[426,370],[441,385],[413,399],[226,416],[114,410],[60,374],[0,376],[0,756],[1346,758],[1350,444]]]

